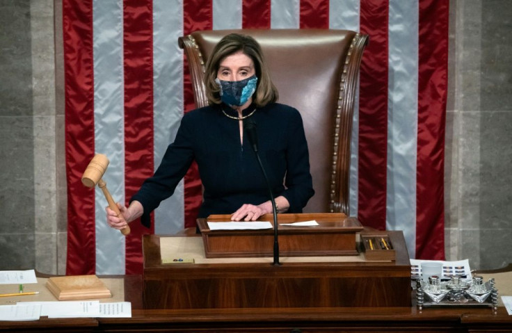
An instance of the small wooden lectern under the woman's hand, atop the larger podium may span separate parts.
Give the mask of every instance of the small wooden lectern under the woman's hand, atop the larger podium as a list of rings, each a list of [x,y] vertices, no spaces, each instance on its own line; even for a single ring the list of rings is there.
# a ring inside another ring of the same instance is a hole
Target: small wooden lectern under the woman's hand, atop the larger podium
[[[207,258],[272,257],[273,229],[214,230],[208,222],[229,221],[230,215],[214,215],[198,220]],[[314,220],[314,227],[283,224]],[[259,220],[272,221],[272,214]],[[354,256],[358,254],[355,234],[362,231],[357,218],[343,213],[280,214],[278,222],[281,257]]]

